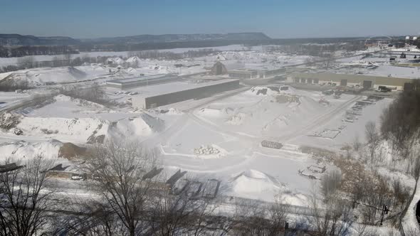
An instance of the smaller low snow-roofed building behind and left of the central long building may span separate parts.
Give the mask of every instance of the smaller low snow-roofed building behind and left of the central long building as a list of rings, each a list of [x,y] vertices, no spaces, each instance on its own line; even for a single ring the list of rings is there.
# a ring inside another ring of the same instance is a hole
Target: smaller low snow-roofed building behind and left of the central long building
[[[142,87],[148,85],[156,85],[164,82],[173,82],[181,80],[181,77],[171,74],[162,74],[162,75],[149,75],[149,76],[140,76],[140,77],[131,77],[121,80],[110,80],[107,81],[108,87],[115,87],[120,90],[127,90],[133,87]]]

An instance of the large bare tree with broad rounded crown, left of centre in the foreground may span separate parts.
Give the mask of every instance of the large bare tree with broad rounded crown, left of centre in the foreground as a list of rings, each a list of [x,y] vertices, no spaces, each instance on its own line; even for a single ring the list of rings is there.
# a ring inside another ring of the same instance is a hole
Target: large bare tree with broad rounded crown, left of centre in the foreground
[[[91,187],[102,195],[112,212],[122,222],[127,235],[141,235],[148,228],[147,205],[153,188],[159,184],[144,178],[155,164],[153,152],[137,144],[108,141],[91,150],[85,170],[93,176]]]

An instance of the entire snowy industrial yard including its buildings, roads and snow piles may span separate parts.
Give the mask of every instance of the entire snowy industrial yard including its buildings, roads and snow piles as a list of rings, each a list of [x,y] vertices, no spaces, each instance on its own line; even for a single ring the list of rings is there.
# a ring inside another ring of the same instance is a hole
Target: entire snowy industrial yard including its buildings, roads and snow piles
[[[77,195],[89,192],[79,186],[88,178],[79,168],[85,149],[125,140],[154,150],[160,166],[146,176],[163,174],[159,181],[174,195],[273,203],[280,194],[284,204],[310,208],[325,174],[346,167],[308,149],[338,159],[355,140],[366,143],[365,125],[380,123],[419,70],[390,64],[374,49],[342,52],[325,70],[322,58],[267,48],[224,47],[182,62],[194,65],[182,70],[177,61],[122,53],[106,63],[0,74],[0,85],[31,85],[0,92],[0,159],[54,160],[51,176]],[[367,54],[375,69],[349,64]],[[135,68],[127,65],[133,61]]]

